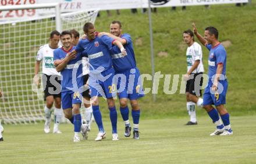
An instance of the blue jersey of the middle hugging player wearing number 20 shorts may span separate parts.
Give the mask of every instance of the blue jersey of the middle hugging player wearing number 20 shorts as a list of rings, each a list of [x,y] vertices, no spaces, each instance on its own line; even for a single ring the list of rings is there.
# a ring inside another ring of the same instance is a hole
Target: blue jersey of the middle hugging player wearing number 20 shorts
[[[90,73],[101,73],[112,67],[110,49],[112,48],[113,38],[107,35],[96,36],[94,40],[80,40],[76,52],[86,52],[89,58]]]

